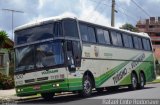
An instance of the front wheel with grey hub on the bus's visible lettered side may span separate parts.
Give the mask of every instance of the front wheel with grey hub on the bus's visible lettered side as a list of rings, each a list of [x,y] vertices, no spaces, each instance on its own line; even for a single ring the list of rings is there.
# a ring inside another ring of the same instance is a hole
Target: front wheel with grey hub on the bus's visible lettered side
[[[89,76],[84,76],[83,78],[83,90],[81,95],[84,97],[88,97],[92,94],[92,80]]]

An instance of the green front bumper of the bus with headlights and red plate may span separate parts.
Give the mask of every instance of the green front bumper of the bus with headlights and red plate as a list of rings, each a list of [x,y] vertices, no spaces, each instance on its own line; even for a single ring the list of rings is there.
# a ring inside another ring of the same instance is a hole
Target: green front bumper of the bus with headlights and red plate
[[[47,92],[69,91],[68,82],[65,80],[57,82],[36,83],[16,87],[17,96],[30,96]]]

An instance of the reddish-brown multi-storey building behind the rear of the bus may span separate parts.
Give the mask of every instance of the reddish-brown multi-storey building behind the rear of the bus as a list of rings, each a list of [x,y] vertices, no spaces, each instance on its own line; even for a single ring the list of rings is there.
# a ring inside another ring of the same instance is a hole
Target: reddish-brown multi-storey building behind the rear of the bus
[[[150,17],[149,19],[140,20],[136,27],[139,32],[148,33],[151,37],[155,57],[160,63],[160,17]]]

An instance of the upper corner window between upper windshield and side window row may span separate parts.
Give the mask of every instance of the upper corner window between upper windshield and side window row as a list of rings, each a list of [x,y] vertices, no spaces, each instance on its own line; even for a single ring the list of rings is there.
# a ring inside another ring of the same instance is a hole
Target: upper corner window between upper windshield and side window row
[[[75,20],[64,20],[63,25],[65,36],[78,38],[78,29]]]

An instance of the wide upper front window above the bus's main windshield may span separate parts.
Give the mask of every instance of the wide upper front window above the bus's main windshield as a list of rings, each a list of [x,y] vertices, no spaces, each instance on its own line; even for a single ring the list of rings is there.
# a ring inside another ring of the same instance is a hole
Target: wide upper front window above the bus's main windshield
[[[17,31],[15,36],[16,45],[53,38],[53,24]]]

